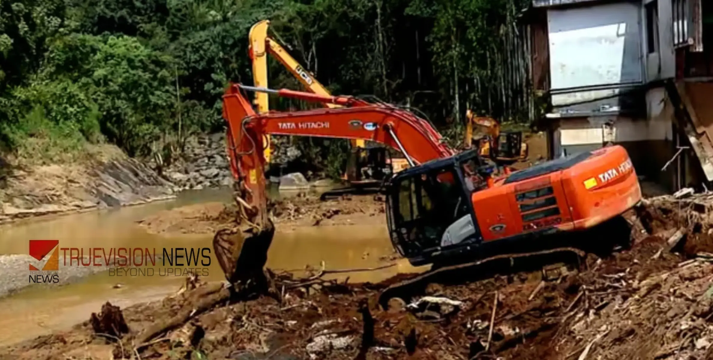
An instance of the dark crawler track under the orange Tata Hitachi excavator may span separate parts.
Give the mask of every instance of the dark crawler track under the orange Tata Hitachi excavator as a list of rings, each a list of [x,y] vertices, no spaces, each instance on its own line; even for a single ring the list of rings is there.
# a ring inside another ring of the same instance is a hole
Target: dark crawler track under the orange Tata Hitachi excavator
[[[497,262],[498,260],[506,261],[509,260],[509,264],[506,264],[506,267],[513,268],[515,267],[515,260],[517,259],[523,259],[523,258],[528,258],[532,259],[533,257],[553,257],[553,258],[559,258],[561,256],[566,256],[566,255],[575,255],[576,260],[578,262],[578,265],[580,264],[580,260],[583,259],[586,255],[586,253],[583,250],[576,249],[575,247],[557,247],[554,249],[549,249],[549,250],[540,250],[536,252],[522,252],[522,253],[511,253],[511,254],[498,254],[493,257],[488,257],[486,259],[478,259],[473,262],[466,262],[466,263],[461,263],[461,264],[455,264],[451,266],[446,266],[446,267],[439,267],[438,269],[430,270],[429,272],[426,272],[425,274],[421,274],[416,277],[412,277],[411,279],[406,279],[402,282],[398,282],[396,284],[392,284],[391,286],[387,287],[384,289],[384,291],[379,294],[379,304],[381,305],[382,309],[389,309],[389,300],[393,298],[401,298],[401,299],[408,299],[412,297],[414,294],[422,292],[423,289],[426,288],[428,284],[431,282],[438,282],[438,279],[442,277],[445,274],[453,276],[453,272],[460,272],[462,275],[464,271],[468,271],[470,274],[473,273],[473,270],[480,269],[481,267],[486,267],[486,265],[489,265],[493,262]],[[502,264],[501,264],[502,265]],[[502,266],[498,267],[498,269],[503,269]],[[465,276],[463,276],[465,277]],[[458,279],[461,277],[459,276]],[[450,281],[453,281],[452,279]]]

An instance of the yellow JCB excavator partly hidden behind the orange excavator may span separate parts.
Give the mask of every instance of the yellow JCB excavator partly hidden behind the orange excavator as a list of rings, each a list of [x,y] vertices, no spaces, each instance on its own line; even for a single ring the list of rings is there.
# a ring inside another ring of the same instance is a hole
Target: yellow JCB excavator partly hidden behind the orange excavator
[[[322,96],[331,96],[327,88],[322,86],[316,78],[302,65],[287,53],[275,38],[267,34],[270,27],[269,20],[262,20],[250,29],[250,59],[252,60],[253,83],[258,88],[267,88],[267,54],[270,53],[277,59],[302,86],[311,93]],[[255,93],[255,106],[258,113],[267,113],[270,110],[267,93]],[[328,108],[340,108],[334,103],[325,103]],[[383,146],[365,146],[364,140],[349,140],[352,152],[347,160],[347,169],[342,175],[342,180],[349,185],[342,189],[330,190],[322,194],[322,198],[330,195],[341,195],[349,192],[373,192],[379,190],[384,178],[408,168],[409,163],[405,158],[391,158],[389,150]],[[265,144],[270,144],[270,135],[265,135]],[[270,163],[270,146],[265,148],[265,160]]]

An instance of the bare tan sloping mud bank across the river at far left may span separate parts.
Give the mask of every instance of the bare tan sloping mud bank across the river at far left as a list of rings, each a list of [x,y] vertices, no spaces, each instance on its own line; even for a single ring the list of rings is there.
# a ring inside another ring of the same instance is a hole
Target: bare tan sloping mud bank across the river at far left
[[[0,224],[175,197],[173,184],[140,160],[106,148],[102,157],[82,163],[11,167],[0,189]]]

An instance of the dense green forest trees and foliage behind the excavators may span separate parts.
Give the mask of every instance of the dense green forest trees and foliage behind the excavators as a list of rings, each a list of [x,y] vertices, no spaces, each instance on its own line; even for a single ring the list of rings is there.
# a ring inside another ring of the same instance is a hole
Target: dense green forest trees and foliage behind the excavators
[[[0,0],[1,150],[152,155],[220,130],[227,82],[252,83],[247,33],[262,19],[333,93],[416,106],[446,128],[466,108],[523,120],[504,110],[493,54],[525,2]],[[271,87],[297,88],[270,67]]]

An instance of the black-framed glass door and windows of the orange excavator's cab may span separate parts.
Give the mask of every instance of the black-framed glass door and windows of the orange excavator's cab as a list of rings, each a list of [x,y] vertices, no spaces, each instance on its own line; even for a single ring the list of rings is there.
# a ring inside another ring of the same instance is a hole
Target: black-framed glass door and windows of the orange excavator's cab
[[[469,214],[468,200],[453,168],[401,180],[396,227],[406,256],[441,247],[448,227]]]

